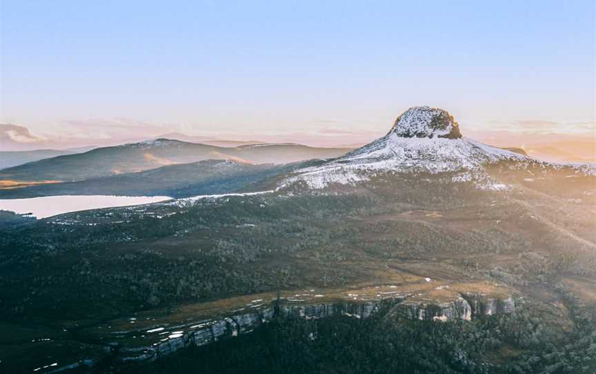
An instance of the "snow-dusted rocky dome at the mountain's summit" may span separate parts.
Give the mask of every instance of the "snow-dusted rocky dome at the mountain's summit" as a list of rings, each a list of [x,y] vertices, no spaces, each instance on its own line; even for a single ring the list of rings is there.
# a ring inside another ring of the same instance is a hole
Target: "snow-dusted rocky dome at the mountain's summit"
[[[415,106],[397,117],[391,132],[399,137],[461,138],[459,124],[446,110]]]

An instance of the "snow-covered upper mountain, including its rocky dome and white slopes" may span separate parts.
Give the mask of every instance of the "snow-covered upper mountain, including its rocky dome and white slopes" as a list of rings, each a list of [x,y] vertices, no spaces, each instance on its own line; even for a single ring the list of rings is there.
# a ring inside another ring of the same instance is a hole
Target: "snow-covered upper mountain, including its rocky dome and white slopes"
[[[384,137],[322,166],[298,170],[297,175],[282,181],[281,187],[304,181],[310,188],[324,188],[392,172],[468,171],[484,175],[484,165],[499,161],[534,160],[461,137],[457,122],[448,112],[422,106],[406,110]]]

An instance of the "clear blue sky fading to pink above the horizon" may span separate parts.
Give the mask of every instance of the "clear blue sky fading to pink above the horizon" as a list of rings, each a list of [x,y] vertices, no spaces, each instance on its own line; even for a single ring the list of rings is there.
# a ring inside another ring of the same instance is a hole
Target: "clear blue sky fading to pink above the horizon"
[[[0,123],[64,144],[358,142],[419,105],[595,139],[593,0],[0,3]]]

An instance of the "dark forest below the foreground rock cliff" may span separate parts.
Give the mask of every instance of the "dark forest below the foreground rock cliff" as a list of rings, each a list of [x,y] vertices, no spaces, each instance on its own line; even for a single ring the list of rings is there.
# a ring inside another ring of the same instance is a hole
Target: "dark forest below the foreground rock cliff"
[[[596,370],[596,308],[524,302],[517,313],[473,322],[278,317],[250,335],[190,347],[113,373],[574,373]],[[566,326],[571,324],[571,328]]]

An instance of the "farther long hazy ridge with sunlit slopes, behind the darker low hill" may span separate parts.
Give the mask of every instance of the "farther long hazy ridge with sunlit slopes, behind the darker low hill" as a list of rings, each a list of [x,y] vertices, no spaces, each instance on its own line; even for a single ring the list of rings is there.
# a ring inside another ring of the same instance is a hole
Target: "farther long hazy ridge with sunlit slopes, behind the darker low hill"
[[[0,170],[0,181],[80,181],[133,173],[171,164],[206,159],[232,159],[253,164],[287,164],[343,155],[344,148],[312,148],[299,144],[249,145],[234,148],[157,139],[63,155]]]

